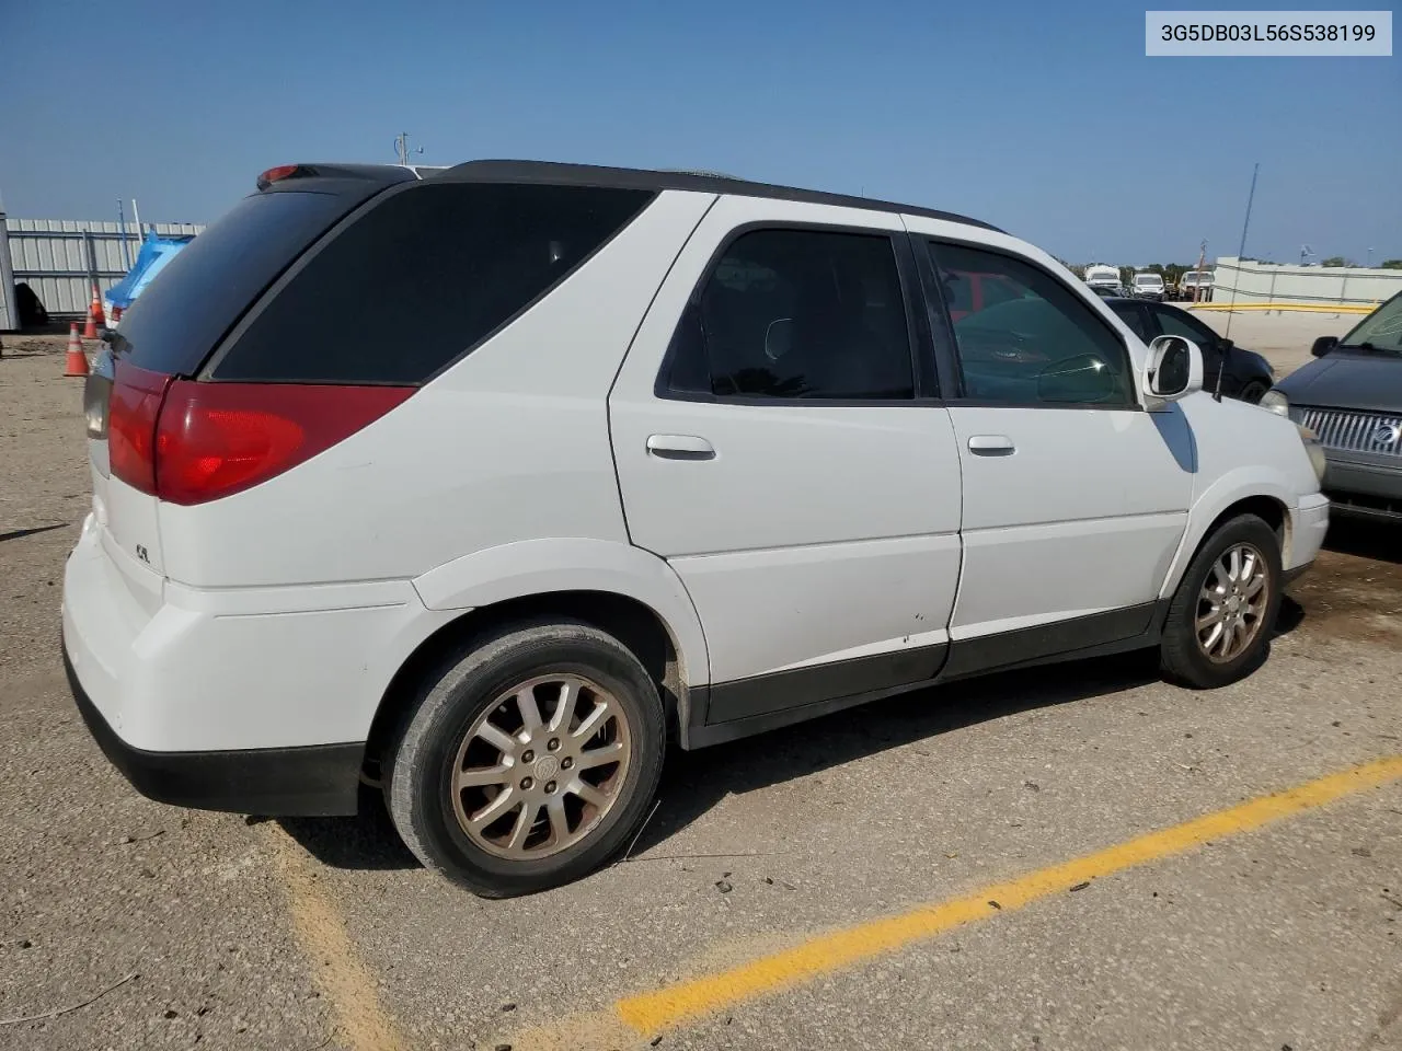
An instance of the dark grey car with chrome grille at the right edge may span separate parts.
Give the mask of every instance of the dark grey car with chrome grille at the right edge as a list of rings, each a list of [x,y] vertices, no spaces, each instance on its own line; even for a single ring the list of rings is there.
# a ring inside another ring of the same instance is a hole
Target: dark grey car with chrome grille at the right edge
[[[1402,293],[1311,353],[1266,404],[1319,436],[1333,510],[1402,521]]]

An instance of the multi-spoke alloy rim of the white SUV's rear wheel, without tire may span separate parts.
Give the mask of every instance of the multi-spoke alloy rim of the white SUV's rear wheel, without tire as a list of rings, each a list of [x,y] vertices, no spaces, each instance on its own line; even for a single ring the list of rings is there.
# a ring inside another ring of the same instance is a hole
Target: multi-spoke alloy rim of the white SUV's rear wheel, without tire
[[[631,757],[613,694],[582,675],[531,678],[498,696],[458,746],[453,811],[484,851],[544,858],[613,810]]]

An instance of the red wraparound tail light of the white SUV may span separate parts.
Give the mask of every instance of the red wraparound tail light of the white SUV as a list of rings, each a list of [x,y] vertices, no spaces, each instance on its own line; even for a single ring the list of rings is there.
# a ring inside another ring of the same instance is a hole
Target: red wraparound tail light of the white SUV
[[[404,402],[412,387],[193,383],[116,366],[112,474],[193,504],[265,482]]]

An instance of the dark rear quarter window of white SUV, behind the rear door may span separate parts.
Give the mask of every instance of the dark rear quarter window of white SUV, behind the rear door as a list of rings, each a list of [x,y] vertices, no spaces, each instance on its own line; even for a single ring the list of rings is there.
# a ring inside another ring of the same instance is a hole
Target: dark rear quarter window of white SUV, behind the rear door
[[[564,280],[651,198],[478,182],[391,193],[292,276],[213,378],[422,383]]]

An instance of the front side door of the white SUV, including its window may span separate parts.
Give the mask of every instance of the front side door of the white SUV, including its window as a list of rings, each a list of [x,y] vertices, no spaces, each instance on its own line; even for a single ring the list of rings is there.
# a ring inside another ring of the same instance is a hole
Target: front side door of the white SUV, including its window
[[[1183,413],[1144,411],[1123,334],[1042,262],[920,247],[941,377],[958,377],[965,563],[946,674],[1141,635],[1187,521]],[[944,289],[972,272],[1021,296],[949,321]]]

